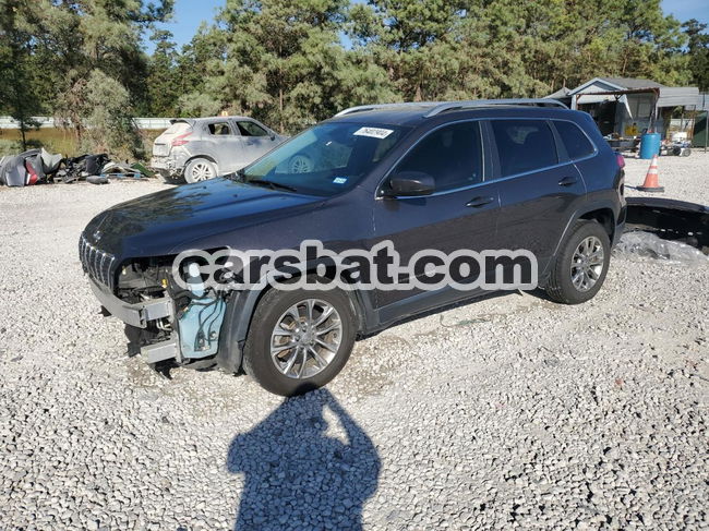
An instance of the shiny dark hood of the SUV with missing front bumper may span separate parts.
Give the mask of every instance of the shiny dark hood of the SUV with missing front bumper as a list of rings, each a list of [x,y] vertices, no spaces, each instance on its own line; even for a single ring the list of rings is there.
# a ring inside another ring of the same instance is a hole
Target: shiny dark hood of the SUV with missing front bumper
[[[217,178],[116,205],[96,216],[84,234],[96,248],[121,258],[169,255],[201,249],[202,240],[290,216],[322,202],[323,197]]]

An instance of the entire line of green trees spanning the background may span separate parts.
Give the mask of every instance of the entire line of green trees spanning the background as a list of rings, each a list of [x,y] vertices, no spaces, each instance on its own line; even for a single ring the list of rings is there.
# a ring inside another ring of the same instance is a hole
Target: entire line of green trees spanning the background
[[[603,75],[709,89],[707,26],[661,0],[226,0],[180,50],[155,27],[172,3],[0,0],[0,112],[23,132],[52,113],[123,158],[141,152],[135,113],[295,133],[351,105],[543,96]]]

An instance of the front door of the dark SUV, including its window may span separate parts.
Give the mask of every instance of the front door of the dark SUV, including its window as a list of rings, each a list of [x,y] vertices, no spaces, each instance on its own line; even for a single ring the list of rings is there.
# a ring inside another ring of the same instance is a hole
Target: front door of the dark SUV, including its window
[[[423,172],[433,177],[435,192],[420,197],[378,197],[374,203],[373,243],[390,240],[407,264],[421,250],[452,253],[483,251],[495,241],[498,184],[484,181],[479,121],[444,125],[423,137],[389,172]],[[383,184],[386,188],[386,183]],[[470,292],[443,288],[378,290],[382,323],[453,302]]]

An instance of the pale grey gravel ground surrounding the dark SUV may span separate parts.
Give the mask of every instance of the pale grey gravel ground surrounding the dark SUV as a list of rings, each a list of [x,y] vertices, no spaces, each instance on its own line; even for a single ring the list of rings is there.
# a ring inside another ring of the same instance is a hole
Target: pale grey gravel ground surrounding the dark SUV
[[[660,180],[709,204],[707,155]],[[708,266],[616,254],[587,304],[412,321],[284,401],[98,314],[80,231],[164,186],[0,189],[0,529],[707,528]]]

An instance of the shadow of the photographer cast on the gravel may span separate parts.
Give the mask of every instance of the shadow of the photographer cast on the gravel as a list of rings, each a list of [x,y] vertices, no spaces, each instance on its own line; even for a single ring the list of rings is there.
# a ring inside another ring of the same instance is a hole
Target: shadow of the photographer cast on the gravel
[[[245,474],[235,530],[359,530],[380,458],[335,397],[320,389],[286,399],[237,435],[227,468]]]

